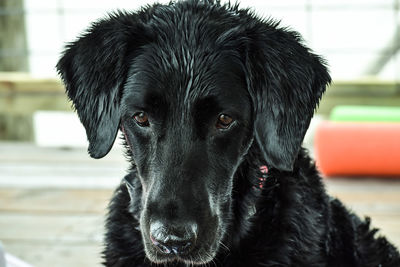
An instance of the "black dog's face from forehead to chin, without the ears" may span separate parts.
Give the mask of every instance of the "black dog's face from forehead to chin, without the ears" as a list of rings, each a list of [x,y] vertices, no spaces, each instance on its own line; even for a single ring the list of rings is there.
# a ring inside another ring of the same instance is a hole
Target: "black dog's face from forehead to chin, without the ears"
[[[124,86],[121,124],[143,187],[140,228],[154,262],[208,262],[227,228],[232,177],[253,122],[240,64],[219,52],[200,50],[191,66],[163,66],[165,55],[185,55],[144,48]]]

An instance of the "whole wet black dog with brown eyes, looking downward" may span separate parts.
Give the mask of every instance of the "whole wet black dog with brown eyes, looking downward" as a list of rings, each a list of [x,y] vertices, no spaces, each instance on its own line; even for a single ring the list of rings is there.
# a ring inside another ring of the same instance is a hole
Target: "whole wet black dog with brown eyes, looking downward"
[[[90,155],[120,129],[132,161],[105,265],[400,266],[301,149],[330,77],[298,33],[218,1],[156,4],[94,23],[57,68]]]

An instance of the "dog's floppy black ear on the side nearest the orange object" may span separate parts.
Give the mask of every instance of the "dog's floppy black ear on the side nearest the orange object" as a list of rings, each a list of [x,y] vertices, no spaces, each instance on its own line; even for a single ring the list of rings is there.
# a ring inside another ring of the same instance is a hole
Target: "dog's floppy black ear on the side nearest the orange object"
[[[262,154],[269,166],[289,171],[331,78],[296,32],[276,27],[263,24],[247,32],[247,83]]]

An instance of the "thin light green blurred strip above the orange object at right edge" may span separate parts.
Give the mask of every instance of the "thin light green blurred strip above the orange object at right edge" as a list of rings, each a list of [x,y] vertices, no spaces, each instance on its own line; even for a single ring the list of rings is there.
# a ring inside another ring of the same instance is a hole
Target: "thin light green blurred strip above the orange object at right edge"
[[[332,121],[400,122],[400,107],[336,106],[331,111],[330,119]]]

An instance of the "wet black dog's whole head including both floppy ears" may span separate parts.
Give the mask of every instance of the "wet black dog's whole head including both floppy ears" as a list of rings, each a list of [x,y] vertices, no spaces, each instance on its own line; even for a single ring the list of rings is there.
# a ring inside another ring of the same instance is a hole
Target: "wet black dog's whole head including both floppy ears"
[[[110,15],[69,44],[57,68],[92,157],[125,133],[153,262],[213,259],[249,147],[291,170],[330,81],[295,32],[195,1]]]

